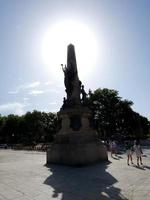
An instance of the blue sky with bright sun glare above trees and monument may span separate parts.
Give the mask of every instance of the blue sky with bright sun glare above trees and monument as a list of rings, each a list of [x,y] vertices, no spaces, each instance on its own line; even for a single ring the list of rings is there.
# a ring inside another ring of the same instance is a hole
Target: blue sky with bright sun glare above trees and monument
[[[59,111],[66,94],[57,63],[67,60],[60,42],[73,33],[71,25],[53,34],[52,27],[71,20],[82,44],[73,43],[86,91],[115,89],[150,119],[149,8],[149,0],[0,0],[1,115]]]

